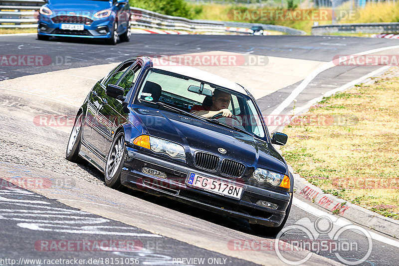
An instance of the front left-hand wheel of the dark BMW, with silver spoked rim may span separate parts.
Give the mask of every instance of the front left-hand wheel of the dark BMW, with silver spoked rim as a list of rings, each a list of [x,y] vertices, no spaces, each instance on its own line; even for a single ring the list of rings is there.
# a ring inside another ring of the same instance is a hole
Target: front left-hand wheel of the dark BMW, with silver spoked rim
[[[105,184],[113,189],[119,189],[121,184],[121,171],[126,154],[125,134],[120,131],[112,141],[105,164]]]

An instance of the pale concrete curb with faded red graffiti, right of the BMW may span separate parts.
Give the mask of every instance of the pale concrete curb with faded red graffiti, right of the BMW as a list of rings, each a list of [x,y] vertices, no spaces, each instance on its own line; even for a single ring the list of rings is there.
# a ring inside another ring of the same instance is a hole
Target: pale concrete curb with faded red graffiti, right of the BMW
[[[291,166],[288,166],[293,173]],[[294,176],[294,194],[312,202],[313,204],[344,217],[356,224],[365,226],[380,233],[399,238],[399,221],[384,217],[380,214],[357,206],[334,195],[324,193],[320,188],[310,184],[298,174]]]

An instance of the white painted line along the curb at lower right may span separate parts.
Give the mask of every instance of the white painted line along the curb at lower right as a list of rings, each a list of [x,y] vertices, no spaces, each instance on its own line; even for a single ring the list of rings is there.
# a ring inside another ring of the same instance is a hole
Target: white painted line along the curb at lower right
[[[310,213],[310,214],[312,214],[312,215],[314,215],[316,217],[327,216],[332,221],[337,220],[334,223],[334,225],[337,225],[339,227],[344,227],[344,226],[353,224],[353,223],[349,222],[349,220],[347,220],[345,218],[333,216],[333,215],[328,214],[328,213],[326,213],[326,212],[324,212],[322,210],[316,209],[315,207],[313,207],[313,206],[311,206],[311,205],[309,205],[309,204],[307,204],[307,203],[305,203],[305,202],[303,202],[301,200],[298,200],[298,198],[294,197],[292,203],[296,207],[298,207],[299,209],[302,209],[303,211],[305,211],[307,213]],[[339,219],[337,219],[337,218],[339,218]],[[372,239],[374,239],[376,241],[379,241],[381,243],[388,244],[388,245],[391,245],[393,247],[399,248],[399,242],[398,241],[395,241],[395,240],[389,239],[387,237],[381,236],[381,235],[376,234],[376,233],[374,233],[374,232],[372,232],[370,230],[367,230],[367,231],[370,233],[370,236],[372,237]]]

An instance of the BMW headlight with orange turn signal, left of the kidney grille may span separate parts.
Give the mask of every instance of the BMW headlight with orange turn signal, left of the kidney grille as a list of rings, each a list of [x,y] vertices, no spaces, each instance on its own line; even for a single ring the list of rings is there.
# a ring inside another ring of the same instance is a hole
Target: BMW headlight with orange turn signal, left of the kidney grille
[[[184,151],[183,146],[171,141],[147,135],[141,135],[134,139],[133,144],[146,149],[151,149],[153,152],[156,153],[168,154],[172,158],[179,158],[186,160],[186,153]]]

